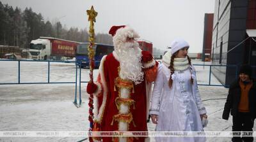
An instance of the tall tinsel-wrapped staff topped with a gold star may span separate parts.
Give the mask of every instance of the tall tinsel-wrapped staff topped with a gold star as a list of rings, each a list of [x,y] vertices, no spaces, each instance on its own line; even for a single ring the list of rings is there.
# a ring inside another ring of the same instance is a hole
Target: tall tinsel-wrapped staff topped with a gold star
[[[93,69],[95,67],[95,63],[94,63],[94,55],[95,52],[93,50],[93,45],[94,45],[94,23],[96,22],[95,17],[97,17],[98,13],[93,9],[93,6],[91,7],[91,10],[87,10],[87,15],[88,15],[88,21],[90,21],[90,30],[89,30],[89,42],[90,45],[88,46],[88,57],[90,59],[90,81],[89,82],[93,82]],[[93,127],[93,94],[90,94],[89,97],[89,122],[90,122],[90,130],[92,131],[92,127]],[[89,141],[92,142],[93,139],[92,137],[89,138]]]

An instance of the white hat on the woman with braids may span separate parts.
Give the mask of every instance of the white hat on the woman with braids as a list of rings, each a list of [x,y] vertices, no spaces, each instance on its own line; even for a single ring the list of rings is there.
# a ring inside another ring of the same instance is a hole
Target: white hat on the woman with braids
[[[173,53],[179,51],[180,49],[182,49],[184,47],[189,48],[188,42],[182,38],[177,38],[177,39],[173,40],[170,46],[171,46],[171,50],[172,50],[172,55],[173,55]]]

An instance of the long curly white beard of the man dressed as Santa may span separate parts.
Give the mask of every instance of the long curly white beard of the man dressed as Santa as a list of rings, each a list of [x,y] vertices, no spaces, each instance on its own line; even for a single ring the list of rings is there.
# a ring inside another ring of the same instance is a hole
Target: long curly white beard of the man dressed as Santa
[[[120,44],[115,48],[120,62],[120,77],[132,80],[136,85],[143,82],[141,50],[137,42]]]

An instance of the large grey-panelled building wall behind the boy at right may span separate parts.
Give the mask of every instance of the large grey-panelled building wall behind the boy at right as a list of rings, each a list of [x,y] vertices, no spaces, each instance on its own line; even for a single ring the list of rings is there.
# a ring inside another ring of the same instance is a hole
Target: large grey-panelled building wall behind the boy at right
[[[255,34],[256,0],[215,1],[211,52],[212,64],[220,66],[212,73],[223,85],[237,78],[241,64],[256,66]]]

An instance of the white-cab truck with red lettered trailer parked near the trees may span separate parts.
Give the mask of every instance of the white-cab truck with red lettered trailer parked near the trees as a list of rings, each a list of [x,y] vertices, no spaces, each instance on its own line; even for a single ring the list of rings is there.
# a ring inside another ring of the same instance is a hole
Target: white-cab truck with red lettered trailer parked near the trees
[[[40,37],[32,40],[29,45],[31,59],[61,60],[76,56],[76,46],[79,42],[52,37]]]

